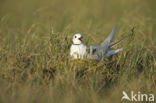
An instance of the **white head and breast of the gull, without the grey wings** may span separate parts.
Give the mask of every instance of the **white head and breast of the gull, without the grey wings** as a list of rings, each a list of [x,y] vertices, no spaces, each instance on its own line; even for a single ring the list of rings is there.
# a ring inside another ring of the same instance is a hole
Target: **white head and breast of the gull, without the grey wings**
[[[75,34],[73,36],[73,44],[70,48],[70,56],[73,59],[84,59],[86,56],[86,45],[83,44],[83,36]]]

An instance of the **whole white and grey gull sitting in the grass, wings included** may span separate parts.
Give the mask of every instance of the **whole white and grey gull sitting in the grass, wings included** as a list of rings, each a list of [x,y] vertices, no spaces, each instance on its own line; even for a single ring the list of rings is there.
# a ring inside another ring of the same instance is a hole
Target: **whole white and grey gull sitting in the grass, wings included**
[[[123,50],[123,48],[112,49],[112,47],[128,36],[123,37],[122,39],[113,42],[114,36],[116,34],[118,25],[115,25],[112,32],[108,35],[108,37],[100,44],[100,45],[91,45],[90,52],[87,53],[86,45],[83,43],[82,34],[78,33],[73,36],[73,44],[70,48],[70,56],[73,59],[84,59],[85,57],[89,59],[101,60],[102,58],[107,58],[113,54],[116,54]]]

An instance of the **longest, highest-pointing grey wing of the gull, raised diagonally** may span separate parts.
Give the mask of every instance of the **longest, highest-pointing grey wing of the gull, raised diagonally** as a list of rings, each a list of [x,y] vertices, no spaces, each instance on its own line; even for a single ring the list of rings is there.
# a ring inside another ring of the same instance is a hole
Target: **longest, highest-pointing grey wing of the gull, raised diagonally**
[[[116,24],[112,30],[112,32],[108,35],[108,37],[101,43],[101,48],[103,53],[106,53],[107,49],[109,48],[110,43],[112,42],[118,25]]]

